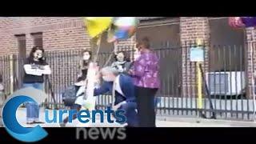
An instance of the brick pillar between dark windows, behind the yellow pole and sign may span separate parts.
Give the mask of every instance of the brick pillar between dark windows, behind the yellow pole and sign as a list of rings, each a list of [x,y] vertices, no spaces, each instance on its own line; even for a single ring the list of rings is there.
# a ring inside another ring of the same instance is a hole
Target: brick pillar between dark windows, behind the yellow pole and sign
[[[208,19],[206,17],[181,17],[180,34],[182,47],[182,93],[185,97],[196,94],[196,78],[195,63],[190,62],[190,47],[187,42],[194,42],[197,38],[202,38],[204,42],[209,43],[210,29]],[[207,60],[207,51],[205,52]],[[207,70],[207,61],[204,64]]]

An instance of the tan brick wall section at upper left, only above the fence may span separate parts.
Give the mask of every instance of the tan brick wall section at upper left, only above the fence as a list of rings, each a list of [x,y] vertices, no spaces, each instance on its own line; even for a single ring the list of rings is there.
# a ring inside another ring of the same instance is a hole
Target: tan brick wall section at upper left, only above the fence
[[[1,54],[17,54],[18,46],[14,34],[26,34],[26,48],[33,46],[31,33],[42,32],[46,50],[90,48],[82,18],[78,17],[31,17],[1,18]]]

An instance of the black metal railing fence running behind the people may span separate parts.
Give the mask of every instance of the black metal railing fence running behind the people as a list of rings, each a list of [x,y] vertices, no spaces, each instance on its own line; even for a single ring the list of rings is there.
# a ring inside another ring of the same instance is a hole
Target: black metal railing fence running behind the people
[[[152,50],[160,58],[161,79],[161,88],[156,97],[157,113],[184,116],[198,116],[202,113],[210,117],[214,112],[217,118],[252,120],[255,108],[251,76],[256,59],[256,54],[253,53],[256,51],[255,44],[203,46],[202,98],[198,98],[196,62],[190,62],[191,47],[194,47],[193,42],[183,46],[171,46],[168,42],[154,45]],[[131,59],[134,58],[133,47],[122,50],[126,50]],[[82,50],[57,50],[46,53],[47,62],[53,71],[45,82],[47,107],[63,107],[61,94],[77,78],[81,52]],[[100,66],[106,64],[110,54],[98,55]],[[250,62],[251,60],[254,62]],[[15,55],[0,57],[6,94],[22,86],[22,61],[23,58]],[[113,61],[114,58],[110,58],[108,65]],[[100,96],[97,98],[97,106],[103,108],[111,101],[109,95]],[[200,103],[202,107],[198,107]]]

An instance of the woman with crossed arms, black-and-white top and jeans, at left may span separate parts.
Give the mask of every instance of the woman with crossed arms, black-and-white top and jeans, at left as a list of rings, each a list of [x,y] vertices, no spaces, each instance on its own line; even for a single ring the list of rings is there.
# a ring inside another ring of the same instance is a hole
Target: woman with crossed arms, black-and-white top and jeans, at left
[[[44,50],[42,47],[34,46],[30,52],[29,58],[26,58],[23,78],[23,87],[34,87],[43,90],[43,76],[50,74],[50,66],[43,57]],[[34,102],[26,103],[26,121],[27,124],[42,123],[39,122],[39,106]]]

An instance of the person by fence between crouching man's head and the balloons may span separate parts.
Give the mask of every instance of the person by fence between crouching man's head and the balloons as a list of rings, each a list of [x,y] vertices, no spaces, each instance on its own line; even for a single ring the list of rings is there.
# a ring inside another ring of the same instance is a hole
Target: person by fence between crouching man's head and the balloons
[[[112,63],[111,67],[114,67],[119,73],[126,74],[130,70],[130,58],[124,51],[119,51],[114,58],[115,62]]]

